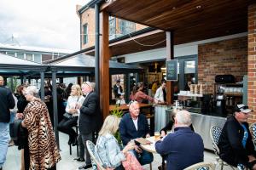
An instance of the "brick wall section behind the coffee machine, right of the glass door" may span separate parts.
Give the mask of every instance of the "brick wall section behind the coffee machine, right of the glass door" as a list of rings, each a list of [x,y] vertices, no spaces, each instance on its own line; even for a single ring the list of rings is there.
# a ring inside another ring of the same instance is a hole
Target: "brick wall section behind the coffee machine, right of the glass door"
[[[201,44],[198,47],[198,82],[213,94],[216,75],[231,74],[236,82],[247,74],[247,37]]]

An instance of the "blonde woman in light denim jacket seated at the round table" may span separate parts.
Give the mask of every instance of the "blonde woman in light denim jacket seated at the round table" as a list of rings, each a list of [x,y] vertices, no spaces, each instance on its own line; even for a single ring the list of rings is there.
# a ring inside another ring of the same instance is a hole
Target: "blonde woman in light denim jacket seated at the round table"
[[[130,142],[123,150],[120,150],[118,141],[113,136],[119,128],[119,122],[119,117],[107,116],[96,142],[96,151],[100,156],[102,166],[107,169],[125,169],[122,161],[125,161],[127,152],[135,147],[135,144]]]

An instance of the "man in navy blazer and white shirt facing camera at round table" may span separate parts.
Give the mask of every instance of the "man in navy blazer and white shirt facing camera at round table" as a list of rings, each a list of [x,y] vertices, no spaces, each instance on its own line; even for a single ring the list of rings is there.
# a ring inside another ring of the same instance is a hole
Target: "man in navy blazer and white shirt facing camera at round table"
[[[119,133],[124,145],[128,144],[132,139],[150,137],[148,121],[146,116],[140,114],[137,101],[131,103],[129,111],[130,113],[125,114],[119,123]],[[135,146],[133,153],[141,165],[145,165],[153,161],[152,153],[141,149],[138,145]]]

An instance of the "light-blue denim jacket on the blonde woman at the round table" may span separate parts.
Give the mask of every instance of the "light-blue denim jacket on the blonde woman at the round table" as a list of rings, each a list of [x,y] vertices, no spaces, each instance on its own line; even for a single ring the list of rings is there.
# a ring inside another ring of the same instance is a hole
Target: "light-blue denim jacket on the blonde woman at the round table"
[[[102,161],[102,167],[119,167],[121,161],[125,161],[125,155],[121,152],[117,140],[110,133],[99,136],[96,151]]]

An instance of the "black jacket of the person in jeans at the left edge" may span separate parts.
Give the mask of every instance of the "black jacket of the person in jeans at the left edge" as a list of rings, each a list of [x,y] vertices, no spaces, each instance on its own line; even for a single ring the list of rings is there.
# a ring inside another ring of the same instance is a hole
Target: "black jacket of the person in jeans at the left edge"
[[[0,86],[0,122],[9,122],[10,109],[14,109],[15,99],[9,88]]]

